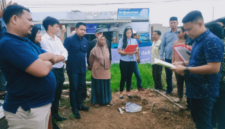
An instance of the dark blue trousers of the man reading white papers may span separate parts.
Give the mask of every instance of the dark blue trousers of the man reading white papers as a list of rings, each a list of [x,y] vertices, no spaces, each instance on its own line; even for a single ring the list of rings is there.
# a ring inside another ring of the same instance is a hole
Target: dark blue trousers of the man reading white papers
[[[191,116],[197,129],[213,129],[211,120],[212,109],[215,102],[216,98],[214,97],[190,99]]]

